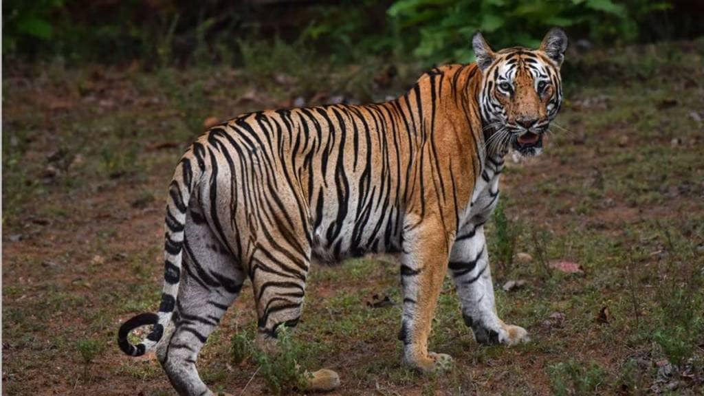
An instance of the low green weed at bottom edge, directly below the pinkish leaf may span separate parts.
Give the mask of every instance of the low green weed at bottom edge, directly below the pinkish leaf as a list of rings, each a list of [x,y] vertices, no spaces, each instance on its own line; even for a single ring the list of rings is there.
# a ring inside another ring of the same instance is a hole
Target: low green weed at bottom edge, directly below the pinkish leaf
[[[595,362],[583,366],[570,359],[548,366],[548,376],[556,396],[593,395],[603,385],[606,371]]]

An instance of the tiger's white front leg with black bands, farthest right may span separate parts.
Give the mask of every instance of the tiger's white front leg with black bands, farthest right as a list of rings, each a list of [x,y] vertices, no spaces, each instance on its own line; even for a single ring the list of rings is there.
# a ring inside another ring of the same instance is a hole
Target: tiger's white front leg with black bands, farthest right
[[[524,328],[507,325],[496,314],[484,225],[470,224],[460,230],[448,267],[462,303],[463,318],[477,342],[515,345],[529,340]]]

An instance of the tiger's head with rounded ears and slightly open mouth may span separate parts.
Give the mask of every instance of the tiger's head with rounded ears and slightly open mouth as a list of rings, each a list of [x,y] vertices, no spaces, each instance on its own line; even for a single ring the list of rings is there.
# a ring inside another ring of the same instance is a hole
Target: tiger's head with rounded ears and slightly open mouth
[[[482,70],[479,106],[486,147],[494,153],[512,147],[523,156],[540,154],[543,133],[562,103],[560,65],[567,35],[553,28],[539,49],[513,47],[494,52],[477,32],[472,46]]]

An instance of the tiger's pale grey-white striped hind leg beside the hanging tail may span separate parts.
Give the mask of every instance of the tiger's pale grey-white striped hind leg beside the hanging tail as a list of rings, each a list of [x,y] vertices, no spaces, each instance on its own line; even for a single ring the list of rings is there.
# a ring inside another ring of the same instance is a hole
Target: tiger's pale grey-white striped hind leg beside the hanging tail
[[[179,395],[213,395],[201,380],[196,361],[208,335],[239,294],[245,276],[202,216],[192,210],[189,215],[174,321],[156,353]]]

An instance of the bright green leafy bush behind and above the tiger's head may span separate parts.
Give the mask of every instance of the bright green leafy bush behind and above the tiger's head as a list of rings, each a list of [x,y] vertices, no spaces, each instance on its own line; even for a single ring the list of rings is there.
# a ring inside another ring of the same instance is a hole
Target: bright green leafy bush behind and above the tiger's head
[[[398,20],[417,58],[432,62],[472,61],[471,37],[481,30],[494,48],[537,47],[549,27],[582,30],[592,39],[633,40],[634,14],[668,7],[665,2],[611,0],[398,0],[389,16]]]

